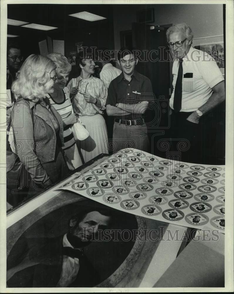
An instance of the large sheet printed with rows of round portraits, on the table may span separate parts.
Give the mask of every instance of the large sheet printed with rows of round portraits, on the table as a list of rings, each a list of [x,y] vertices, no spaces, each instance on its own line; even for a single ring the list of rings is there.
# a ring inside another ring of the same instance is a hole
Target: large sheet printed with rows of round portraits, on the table
[[[225,166],[177,162],[127,148],[59,189],[138,216],[224,233]]]

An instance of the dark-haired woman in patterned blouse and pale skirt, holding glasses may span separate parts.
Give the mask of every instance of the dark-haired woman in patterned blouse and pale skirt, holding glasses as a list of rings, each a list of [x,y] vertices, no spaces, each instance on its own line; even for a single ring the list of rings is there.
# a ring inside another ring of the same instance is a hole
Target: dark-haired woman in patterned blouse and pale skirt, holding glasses
[[[102,80],[92,76],[95,62],[92,54],[83,51],[76,59],[81,74],[68,83],[70,98],[73,98],[74,112],[89,132],[89,137],[80,141],[84,162],[101,153],[108,153],[107,128],[102,116],[107,99],[107,88]]]

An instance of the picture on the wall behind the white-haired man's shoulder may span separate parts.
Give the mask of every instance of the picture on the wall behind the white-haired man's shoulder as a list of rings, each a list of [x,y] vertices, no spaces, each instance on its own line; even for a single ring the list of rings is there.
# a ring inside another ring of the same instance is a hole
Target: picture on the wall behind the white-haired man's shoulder
[[[205,51],[210,54],[216,61],[222,75],[225,74],[225,47],[223,36],[212,36],[205,38],[193,39],[195,49]]]

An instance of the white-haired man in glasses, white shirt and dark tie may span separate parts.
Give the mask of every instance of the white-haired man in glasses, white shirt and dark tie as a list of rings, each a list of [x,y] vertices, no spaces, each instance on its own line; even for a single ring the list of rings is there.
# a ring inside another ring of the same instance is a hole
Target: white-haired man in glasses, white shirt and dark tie
[[[224,78],[216,61],[208,53],[192,47],[193,32],[187,24],[171,26],[166,31],[166,37],[174,60],[174,89],[169,103],[169,137],[176,139],[171,141],[176,144],[172,148],[178,152],[178,140],[187,139],[189,143],[184,147],[188,150],[182,151],[181,161],[204,164],[208,160],[204,143],[208,141],[211,146],[216,135],[214,133],[212,138],[208,126],[214,124],[212,116],[207,114],[225,100]]]

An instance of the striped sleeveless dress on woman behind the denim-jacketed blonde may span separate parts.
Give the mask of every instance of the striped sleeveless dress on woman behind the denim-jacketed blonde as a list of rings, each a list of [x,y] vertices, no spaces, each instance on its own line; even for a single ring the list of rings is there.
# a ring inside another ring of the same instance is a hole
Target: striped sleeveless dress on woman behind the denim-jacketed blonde
[[[69,99],[69,93],[68,89],[65,87],[63,89],[63,96],[64,100],[61,103],[56,103],[53,98],[49,95],[50,104],[53,105],[53,107],[58,111],[61,118],[64,120],[72,113],[72,105]],[[66,156],[68,157],[68,167],[73,170],[74,168],[77,168],[82,165],[82,161],[80,158],[80,154],[78,151],[78,148],[75,143],[75,139],[73,137],[73,133],[71,130],[71,126],[65,126],[63,128],[63,137],[64,137],[64,147],[63,150],[66,153]],[[70,166],[72,165],[72,166]]]

